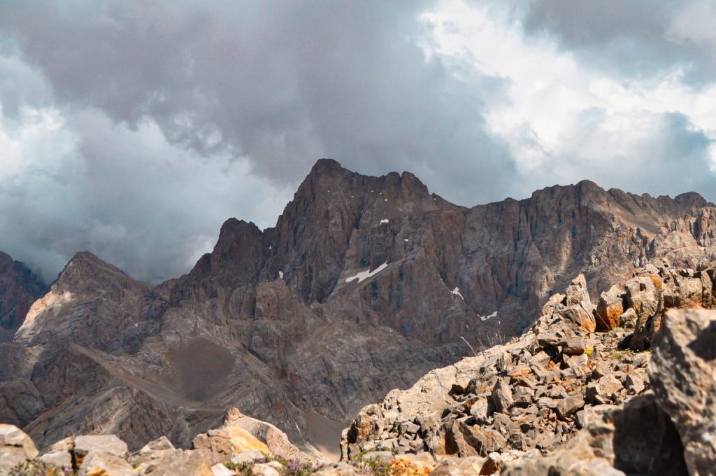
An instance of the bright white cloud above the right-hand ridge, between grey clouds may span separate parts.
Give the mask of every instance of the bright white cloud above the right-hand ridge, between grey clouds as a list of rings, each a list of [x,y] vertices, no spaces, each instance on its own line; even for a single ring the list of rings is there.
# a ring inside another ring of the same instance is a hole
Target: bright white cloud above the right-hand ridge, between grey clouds
[[[646,191],[649,184],[638,176],[625,179],[603,168],[658,167],[657,158],[688,158],[702,168],[705,161],[716,163],[708,143],[716,140],[716,85],[694,89],[684,84],[679,67],[665,75],[624,80],[559,49],[548,35],[526,37],[512,13],[492,4],[445,1],[422,15],[432,32],[432,41],[423,47],[429,56],[455,65],[460,77],[472,68],[507,80],[508,101],[488,98],[484,114],[490,131],[509,144],[524,180],[538,186],[545,180],[591,178],[604,186]],[[670,123],[671,113],[683,115],[688,124]],[[669,130],[672,125],[677,129]],[[705,136],[701,143],[692,137],[702,146],[702,156],[668,148],[664,134],[670,133]],[[653,178],[653,192],[687,191],[687,181]]]

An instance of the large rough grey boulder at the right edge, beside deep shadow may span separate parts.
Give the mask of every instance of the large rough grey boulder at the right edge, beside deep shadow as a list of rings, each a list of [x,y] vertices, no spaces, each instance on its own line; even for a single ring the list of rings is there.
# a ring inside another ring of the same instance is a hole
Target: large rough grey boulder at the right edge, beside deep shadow
[[[657,403],[681,436],[690,474],[714,474],[716,311],[669,310],[647,371]]]

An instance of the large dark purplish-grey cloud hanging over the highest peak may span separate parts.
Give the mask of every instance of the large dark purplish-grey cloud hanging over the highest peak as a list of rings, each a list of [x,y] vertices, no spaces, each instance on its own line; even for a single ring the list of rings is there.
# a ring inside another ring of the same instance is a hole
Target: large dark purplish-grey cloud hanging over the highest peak
[[[483,130],[485,91],[413,41],[425,2],[44,5],[6,8],[0,25],[59,97],[130,125],[152,118],[173,143],[248,156],[274,180],[318,156],[372,172],[480,156],[495,185],[509,167]]]

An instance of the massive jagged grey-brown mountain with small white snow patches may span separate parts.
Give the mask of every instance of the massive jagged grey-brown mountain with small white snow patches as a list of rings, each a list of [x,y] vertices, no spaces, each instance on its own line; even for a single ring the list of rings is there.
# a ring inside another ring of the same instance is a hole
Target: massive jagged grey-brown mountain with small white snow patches
[[[237,406],[320,447],[467,343],[521,333],[576,275],[596,299],[651,260],[715,258],[715,233],[716,208],[693,193],[583,181],[466,208],[411,173],[321,159],[276,227],[229,219],[177,279],[151,287],[73,257],[0,345],[0,392],[24,395],[0,419],[42,447],[92,432],[186,447]]]

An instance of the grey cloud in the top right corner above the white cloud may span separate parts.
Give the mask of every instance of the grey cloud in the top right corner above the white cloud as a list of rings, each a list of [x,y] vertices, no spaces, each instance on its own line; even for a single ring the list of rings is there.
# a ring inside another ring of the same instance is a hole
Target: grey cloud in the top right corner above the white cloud
[[[715,43],[692,41],[678,22],[690,6],[699,3],[533,0],[526,2],[522,13],[526,32],[552,35],[563,48],[581,54],[596,67],[631,77],[669,73],[680,67],[684,80],[702,85],[716,79]],[[714,19],[716,11],[712,18],[703,18],[706,22]]]

